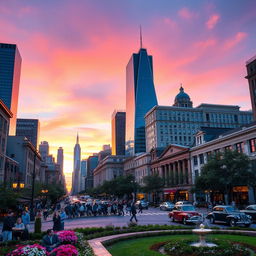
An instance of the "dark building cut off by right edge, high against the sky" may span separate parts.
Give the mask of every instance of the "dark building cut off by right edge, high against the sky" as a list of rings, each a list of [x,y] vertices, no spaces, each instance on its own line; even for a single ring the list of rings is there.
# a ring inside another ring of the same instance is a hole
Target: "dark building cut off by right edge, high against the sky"
[[[249,90],[252,102],[253,119],[256,121],[256,55],[246,62]]]

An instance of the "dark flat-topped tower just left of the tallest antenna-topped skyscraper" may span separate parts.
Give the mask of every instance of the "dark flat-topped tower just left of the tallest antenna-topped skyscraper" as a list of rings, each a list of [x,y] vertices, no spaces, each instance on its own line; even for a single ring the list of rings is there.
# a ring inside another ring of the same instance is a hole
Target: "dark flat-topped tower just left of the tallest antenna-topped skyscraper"
[[[125,112],[114,111],[111,126],[112,155],[125,155]]]

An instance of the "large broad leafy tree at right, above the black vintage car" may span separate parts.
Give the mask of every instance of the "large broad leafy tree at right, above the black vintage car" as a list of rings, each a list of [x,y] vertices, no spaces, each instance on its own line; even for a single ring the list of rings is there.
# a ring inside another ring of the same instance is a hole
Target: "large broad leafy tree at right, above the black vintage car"
[[[196,190],[219,191],[230,203],[235,186],[255,186],[256,172],[251,168],[247,155],[227,150],[213,155],[203,166],[201,175],[195,182]]]

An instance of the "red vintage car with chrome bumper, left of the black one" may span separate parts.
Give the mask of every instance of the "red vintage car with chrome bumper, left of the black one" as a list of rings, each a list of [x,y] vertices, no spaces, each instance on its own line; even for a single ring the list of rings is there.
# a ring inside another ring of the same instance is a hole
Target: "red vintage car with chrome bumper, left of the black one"
[[[197,224],[202,222],[202,215],[196,211],[191,204],[177,205],[169,212],[169,218],[175,222],[179,221],[183,224]]]

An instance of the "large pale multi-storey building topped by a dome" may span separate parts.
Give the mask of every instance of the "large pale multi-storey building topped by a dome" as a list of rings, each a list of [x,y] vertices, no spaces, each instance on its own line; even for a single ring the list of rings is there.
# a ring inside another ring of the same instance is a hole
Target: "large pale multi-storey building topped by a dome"
[[[200,127],[237,128],[252,122],[252,112],[239,109],[239,106],[218,104],[193,108],[181,87],[173,106],[155,106],[145,115],[147,152],[170,144],[190,147]]]

